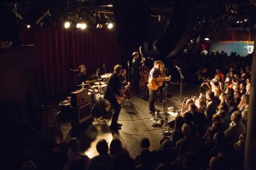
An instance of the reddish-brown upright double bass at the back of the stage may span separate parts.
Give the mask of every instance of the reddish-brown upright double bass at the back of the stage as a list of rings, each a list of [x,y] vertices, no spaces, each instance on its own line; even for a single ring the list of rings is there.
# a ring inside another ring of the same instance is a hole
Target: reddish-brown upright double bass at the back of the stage
[[[148,67],[148,65],[145,65],[145,58],[143,56],[143,52],[142,52],[142,46],[140,46],[139,48],[139,52],[142,55],[142,68],[140,70],[140,82],[139,82],[139,88],[143,91],[145,91],[147,89],[147,84],[148,84],[148,75],[149,75],[149,71],[150,68]]]

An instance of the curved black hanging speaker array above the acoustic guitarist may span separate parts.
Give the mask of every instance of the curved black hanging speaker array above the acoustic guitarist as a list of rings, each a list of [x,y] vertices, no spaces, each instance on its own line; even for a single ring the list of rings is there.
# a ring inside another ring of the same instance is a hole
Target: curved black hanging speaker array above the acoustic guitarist
[[[166,58],[177,54],[188,41],[196,19],[198,0],[178,0],[173,2],[172,17],[164,35],[155,47]]]

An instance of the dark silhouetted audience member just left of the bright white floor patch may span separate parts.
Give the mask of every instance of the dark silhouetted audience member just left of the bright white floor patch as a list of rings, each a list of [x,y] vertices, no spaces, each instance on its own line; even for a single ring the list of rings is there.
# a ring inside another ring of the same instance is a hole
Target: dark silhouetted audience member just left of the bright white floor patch
[[[73,161],[77,159],[81,159],[84,161],[84,169],[88,169],[90,164],[90,159],[88,156],[84,155],[80,150],[80,141],[77,138],[70,139],[68,141],[68,147],[70,149],[69,153],[67,153],[67,161],[64,165],[64,170],[68,170],[73,163]]]

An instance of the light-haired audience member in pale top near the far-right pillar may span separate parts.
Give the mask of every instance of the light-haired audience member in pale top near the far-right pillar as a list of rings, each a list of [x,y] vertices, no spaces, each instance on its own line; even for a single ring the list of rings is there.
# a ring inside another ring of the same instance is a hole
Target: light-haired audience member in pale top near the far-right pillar
[[[233,149],[234,144],[239,139],[241,133],[245,133],[245,127],[241,122],[241,113],[239,111],[234,111],[231,114],[230,127],[225,130],[225,135],[227,139],[227,143],[229,144],[229,149]]]

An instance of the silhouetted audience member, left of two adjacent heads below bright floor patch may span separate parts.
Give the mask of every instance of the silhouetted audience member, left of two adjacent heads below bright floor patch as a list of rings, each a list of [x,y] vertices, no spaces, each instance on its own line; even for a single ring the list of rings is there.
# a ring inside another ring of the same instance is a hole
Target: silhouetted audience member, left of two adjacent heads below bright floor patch
[[[96,144],[98,156],[94,156],[90,161],[90,170],[112,170],[113,156],[108,154],[108,143],[105,139],[101,139]]]

